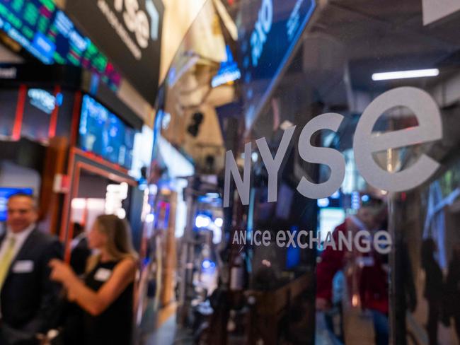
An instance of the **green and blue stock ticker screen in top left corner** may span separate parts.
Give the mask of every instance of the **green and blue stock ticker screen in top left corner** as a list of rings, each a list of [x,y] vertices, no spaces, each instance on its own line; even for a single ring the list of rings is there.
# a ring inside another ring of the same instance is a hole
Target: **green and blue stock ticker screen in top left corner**
[[[114,90],[120,74],[52,0],[2,0],[0,29],[44,64],[71,64],[98,74]]]

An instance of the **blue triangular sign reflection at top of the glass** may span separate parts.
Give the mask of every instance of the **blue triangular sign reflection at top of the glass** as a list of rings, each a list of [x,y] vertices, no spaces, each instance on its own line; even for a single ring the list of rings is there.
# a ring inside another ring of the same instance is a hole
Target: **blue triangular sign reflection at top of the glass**
[[[315,7],[315,0],[241,1],[238,37],[246,128],[268,99]]]

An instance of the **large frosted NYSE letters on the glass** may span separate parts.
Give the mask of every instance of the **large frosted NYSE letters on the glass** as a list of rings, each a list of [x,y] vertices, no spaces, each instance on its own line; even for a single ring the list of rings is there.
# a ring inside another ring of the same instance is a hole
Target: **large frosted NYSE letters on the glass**
[[[385,134],[372,133],[374,124],[379,117],[393,107],[408,107],[418,120],[418,127],[410,131],[401,129]],[[345,177],[345,158],[333,148],[316,147],[311,145],[311,136],[317,131],[329,129],[338,131],[343,116],[329,112],[311,119],[299,136],[299,156],[308,163],[324,164],[330,168],[330,177],[326,182],[314,183],[302,177],[297,191],[311,199],[329,197],[342,185]],[[287,152],[289,142],[294,134],[295,126],[284,131],[275,158],[272,157],[265,138],[255,141],[268,172],[268,202],[277,201],[277,179],[282,160]],[[435,100],[420,88],[401,87],[389,90],[377,97],[364,110],[357,124],[353,149],[358,170],[369,185],[389,192],[401,192],[413,189],[425,182],[439,168],[432,158],[422,154],[410,167],[399,172],[388,172],[377,165],[372,154],[386,151],[390,148],[401,148],[415,144],[437,141],[442,138],[442,121]],[[249,204],[249,188],[251,180],[251,148],[248,143],[244,148],[243,178],[232,151],[226,152],[224,207],[229,206],[231,177],[243,205]]]

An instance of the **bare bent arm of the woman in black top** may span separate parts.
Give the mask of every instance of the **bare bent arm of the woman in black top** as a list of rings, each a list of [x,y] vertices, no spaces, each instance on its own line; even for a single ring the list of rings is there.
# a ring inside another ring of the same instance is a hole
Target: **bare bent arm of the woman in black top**
[[[53,268],[51,278],[61,281],[64,287],[67,288],[71,300],[74,300],[91,315],[100,315],[106,310],[125,291],[125,288],[134,281],[136,274],[134,259],[123,259],[115,266],[108,281],[96,292],[88,288],[63,262],[54,261],[51,265]]]

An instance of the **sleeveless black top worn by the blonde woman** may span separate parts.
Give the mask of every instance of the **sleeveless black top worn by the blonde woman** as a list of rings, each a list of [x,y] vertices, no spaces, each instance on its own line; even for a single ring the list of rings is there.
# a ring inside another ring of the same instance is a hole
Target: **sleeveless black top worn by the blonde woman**
[[[86,286],[93,291],[98,291],[117,264],[117,261],[100,262],[86,276]],[[84,312],[85,345],[129,345],[131,343],[133,289],[134,283],[130,283],[125,291],[98,316]]]

